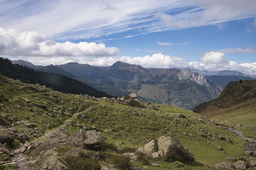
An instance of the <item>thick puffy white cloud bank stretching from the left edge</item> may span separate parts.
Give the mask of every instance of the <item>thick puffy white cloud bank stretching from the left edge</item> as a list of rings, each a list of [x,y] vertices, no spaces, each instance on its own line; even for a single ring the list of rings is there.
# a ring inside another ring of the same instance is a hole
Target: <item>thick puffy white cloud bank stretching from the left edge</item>
[[[17,33],[14,29],[0,28],[0,55],[3,56],[117,56],[116,47],[104,43],[65,42],[47,40],[35,31]]]

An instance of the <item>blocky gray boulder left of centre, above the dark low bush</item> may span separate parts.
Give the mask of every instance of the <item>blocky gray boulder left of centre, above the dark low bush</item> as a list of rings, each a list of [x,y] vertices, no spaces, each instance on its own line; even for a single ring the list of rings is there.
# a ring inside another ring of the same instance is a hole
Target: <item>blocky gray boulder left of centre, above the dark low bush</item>
[[[70,135],[70,144],[88,150],[102,150],[105,148],[105,137],[95,130],[80,129]]]

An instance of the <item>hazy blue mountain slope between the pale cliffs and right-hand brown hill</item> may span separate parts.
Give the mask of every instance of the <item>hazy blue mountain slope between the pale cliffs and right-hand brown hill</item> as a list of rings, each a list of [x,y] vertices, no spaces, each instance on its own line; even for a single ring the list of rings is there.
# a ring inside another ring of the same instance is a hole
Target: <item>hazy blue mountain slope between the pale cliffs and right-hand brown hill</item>
[[[232,81],[239,81],[239,80],[251,80],[251,77],[244,77],[241,75],[211,75],[207,77],[212,82],[220,86],[222,89],[225,88],[225,86]]]

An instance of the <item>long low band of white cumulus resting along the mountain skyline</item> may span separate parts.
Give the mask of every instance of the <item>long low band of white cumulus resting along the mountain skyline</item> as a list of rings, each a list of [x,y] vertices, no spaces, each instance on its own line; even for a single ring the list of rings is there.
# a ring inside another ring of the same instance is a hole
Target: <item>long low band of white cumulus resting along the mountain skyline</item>
[[[141,65],[145,68],[194,68],[197,70],[234,70],[247,74],[256,75],[256,63],[238,64],[235,61],[227,61],[224,54],[220,52],[206,52],[201,61],[188,61],[184,58],[164,55],[162,53],[146,55],[132,58],[130,56],[122,57],[102,57],[102,58],[83,58],[83,57],[43,57],[38,60],[36,57],[28,58],[28,61],[35,65],[60,65],[68,62],[77,62],[93,66],[110,66],[116,61],[123,61],[131,65]]]

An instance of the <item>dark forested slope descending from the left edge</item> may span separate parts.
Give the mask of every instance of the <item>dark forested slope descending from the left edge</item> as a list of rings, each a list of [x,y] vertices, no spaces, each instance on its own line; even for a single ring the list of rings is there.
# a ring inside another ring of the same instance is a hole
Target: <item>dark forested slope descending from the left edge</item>
[[[63,93],[87,94],[95,97],[110,97],[106,93],[93,89],[92,87],[64,75],[56,73],[40,72],[27,68],[26,66],[13,65],[9,59],[0,58],[0,73],[12,79],[22,82],[41,84]]]

